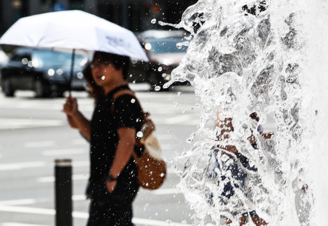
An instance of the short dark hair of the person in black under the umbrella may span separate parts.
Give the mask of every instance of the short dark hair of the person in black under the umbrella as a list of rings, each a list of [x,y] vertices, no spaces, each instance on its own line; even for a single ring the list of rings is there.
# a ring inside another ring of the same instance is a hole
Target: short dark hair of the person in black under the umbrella
[[[101,51],[95,51],[93,55],[93,60],[97,59],[102,64],[113,64],[114,67],[119,70],[123,69],[122,75],[123,79],[128,79],[128,69],[130,64],[130,57],[121,56],[113,53],[106,53]]]

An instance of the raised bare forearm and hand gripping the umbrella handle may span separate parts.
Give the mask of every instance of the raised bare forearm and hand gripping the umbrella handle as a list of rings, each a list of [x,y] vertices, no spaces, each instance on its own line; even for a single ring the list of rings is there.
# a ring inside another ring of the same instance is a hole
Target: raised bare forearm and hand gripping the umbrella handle
[[[88,139],[91,137],[91,122],[77,109],[77,101],[73,97],[67,97],[64,104],[64,112],[67,115],[69,124],[78,129]]]

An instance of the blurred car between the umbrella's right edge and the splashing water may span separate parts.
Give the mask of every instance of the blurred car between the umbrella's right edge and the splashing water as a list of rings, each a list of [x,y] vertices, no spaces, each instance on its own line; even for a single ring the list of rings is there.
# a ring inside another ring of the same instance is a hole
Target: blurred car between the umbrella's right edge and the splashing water
[[[188,34],[187,34],[188,35]],[[136,35],[150,62],[131,59],[129,81],[147,82],[152,90],[162,87],[171,80],[171,72],[186,54],[186,46],[178,48],[177,43],[186,42],[185,31],[149,30]],[[182,84],[182,83],[180,83]],[[187,83],[183,83],[187,84]],[[162,90],[162,89],[161,89]]]

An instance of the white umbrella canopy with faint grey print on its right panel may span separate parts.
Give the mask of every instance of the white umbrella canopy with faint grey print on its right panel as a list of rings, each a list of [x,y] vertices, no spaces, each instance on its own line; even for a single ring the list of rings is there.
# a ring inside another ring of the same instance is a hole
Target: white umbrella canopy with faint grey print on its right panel
[[[79,10],[20,18],[0,38],[0,44],[103,51],[149,61],[131,31]]]

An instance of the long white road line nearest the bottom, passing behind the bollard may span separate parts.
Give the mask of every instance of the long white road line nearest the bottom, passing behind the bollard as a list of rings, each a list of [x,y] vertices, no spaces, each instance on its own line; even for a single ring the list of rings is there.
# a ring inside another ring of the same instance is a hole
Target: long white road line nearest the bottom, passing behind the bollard
[[[55,215],[56,211],[53,209],[44,209],[44,208],[34,208],[34,207],[13,207],[13,206],[0,206],[0,211],[3,212],[14,212],[14,213],[30,213],[30,214],[42,214],[42,215]],[[89,214],[85,212],[76,212],[73,211],[72,216],[74,218],[80,218],[80,219],[88,219]],[[132,218],[132,222],[135,224],[151,224],[151,225],[158,225],[158,226],[168,226],[169,223],[162,220],[152,220],[152,219],[144,219],[144,218]],[[191,226],[191,224],[185,224],[185,223],[178,223],[178,222],[171,222],[170,225],[175,226]],[[6,225],[6,226],[16,226],[14,224],[12,225]],[[17,226],[30,226],[27,225],[17,225]],[[35,225],[31,225],[35,226]]]

